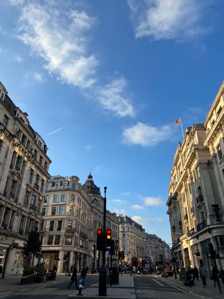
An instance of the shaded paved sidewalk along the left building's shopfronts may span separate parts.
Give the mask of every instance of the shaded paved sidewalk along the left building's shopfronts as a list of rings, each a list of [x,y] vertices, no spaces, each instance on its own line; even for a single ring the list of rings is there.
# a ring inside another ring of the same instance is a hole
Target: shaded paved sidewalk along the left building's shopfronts
[[[64,281],[69,281],[71,277],[65,276],[65,273],[57,273],[56,280],[50,280],[45,283],[46,286],[54,285],[57,283],[61,283]],[[14,277],[14,278],[0,278],[0,290],[1,293],[5,293],[10,291],[16,290],[28,290],[28,289],[36,289],[38,287],[43,287],[43,283],[31,283],[26,284],[24,286],[20,286],[21,277]]]

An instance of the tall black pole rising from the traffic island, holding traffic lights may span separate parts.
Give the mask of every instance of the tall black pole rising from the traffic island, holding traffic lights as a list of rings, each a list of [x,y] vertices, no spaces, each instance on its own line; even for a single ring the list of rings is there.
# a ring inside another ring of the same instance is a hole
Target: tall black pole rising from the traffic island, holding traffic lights
[[[107,296],[107,267],[106,263],[106,191],[104,187],[104,203],[103,203],[103,250],[102,250],[102,266],[99,271],[99,296]]]

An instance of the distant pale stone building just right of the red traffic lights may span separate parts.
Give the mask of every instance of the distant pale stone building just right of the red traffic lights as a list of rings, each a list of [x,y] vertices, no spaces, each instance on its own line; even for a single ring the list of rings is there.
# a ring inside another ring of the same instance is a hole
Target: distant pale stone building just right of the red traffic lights
[[[147,255],[145,229],[126,215],[120,218],[120,250],[124,251],[123,263],[131,265],[131,258],[137,257],[141,261]]]

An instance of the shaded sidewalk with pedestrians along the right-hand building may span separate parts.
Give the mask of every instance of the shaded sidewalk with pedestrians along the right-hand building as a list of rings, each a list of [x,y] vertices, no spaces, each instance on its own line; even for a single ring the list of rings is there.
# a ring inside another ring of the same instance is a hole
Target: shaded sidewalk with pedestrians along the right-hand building
[[[179,288],[183,288],[184,290],[190,291],[193,294],[197,294],[199,296],[202,296],[202,298],[219,298],[223,299],[224,298],[224,285],[222,282],[220,282],[221,290],[222,293],[219,292],[219,287],[213,287],[213,280],[212,279],[206,279],[207,283],[207,288],[204,288],[202,285],[202,280],[199,278],[198,280],[194,280],[194,285],[192,288],[190,287],[185,287],[183,281],[180,280],[180,277],[177,276],[177,279],[175,280],[175,277],[167,277],[163,278],[161,276],[156,276],[153,274],[155,277],[160,278],[161,280],[164,280],[168,283],[174,284],[175,286],[178,286]]]

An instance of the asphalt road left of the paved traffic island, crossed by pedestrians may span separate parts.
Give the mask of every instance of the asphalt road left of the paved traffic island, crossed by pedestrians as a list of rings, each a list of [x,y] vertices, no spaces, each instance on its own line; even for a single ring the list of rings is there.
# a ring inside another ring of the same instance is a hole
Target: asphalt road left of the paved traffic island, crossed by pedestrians
[[[52,286],[38,287],[34,289],[17,290],[1,293],[0,299],[64,299],[75,290],[75,283],[72,284],[70,290],[67,290],[71,277],[68,277],[68,281],[57,283]],[[85,288],[88,288],[91,284],[96,283],[99,280],[98,275],[87,275],[85,279]]]

